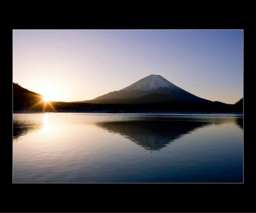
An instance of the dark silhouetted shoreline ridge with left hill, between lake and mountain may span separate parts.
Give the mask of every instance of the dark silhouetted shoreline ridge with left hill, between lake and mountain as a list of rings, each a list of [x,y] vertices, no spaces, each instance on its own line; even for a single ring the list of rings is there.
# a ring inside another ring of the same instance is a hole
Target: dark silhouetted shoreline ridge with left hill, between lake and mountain
[[[13,112],[88,113],[243,113],[243,99],[236,104],[221,102],[143,102],[131,104],[93,104],[87,102],[44,102],[42,95],[13,83]]]

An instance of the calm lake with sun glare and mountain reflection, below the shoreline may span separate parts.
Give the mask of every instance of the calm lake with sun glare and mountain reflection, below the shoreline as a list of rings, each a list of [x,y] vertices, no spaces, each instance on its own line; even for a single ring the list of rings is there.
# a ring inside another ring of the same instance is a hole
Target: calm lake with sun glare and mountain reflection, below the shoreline
[[[243,116],[14,113],[13,183],[243,183]]]

